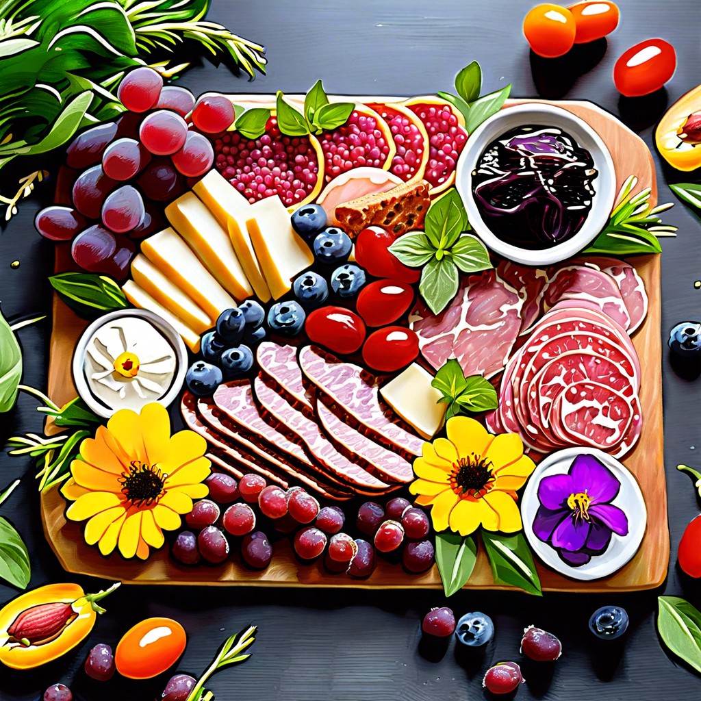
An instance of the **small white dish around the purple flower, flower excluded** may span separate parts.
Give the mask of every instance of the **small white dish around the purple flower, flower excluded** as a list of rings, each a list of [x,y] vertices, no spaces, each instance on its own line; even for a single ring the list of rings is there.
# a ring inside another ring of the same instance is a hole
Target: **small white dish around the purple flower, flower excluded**
[[[543,540],[540,540],[533,533],[533,519],[535,519],[540,506],[540,501],[538,501],[540,480],[547,475],[565,475],[574,458],[580,454],[593,455],[601,463],[604,463],[620,482],[620,491],[611,503],[622,509],[628,517],[628,535],[618,536],[613,533],[611,543],[603,554],[594,555],[585,565],[572,567],[564,562],[552,545],[543,543]],[[618,460],[595,448],[568,448],[550,454],[536,465],[536,469],[526,484],[521,505],[521,517],[524,533],[531,549],[550,569],[572,579],[591,581],[613,574],[638,552],[645,534],[648,512],[635,477]]]

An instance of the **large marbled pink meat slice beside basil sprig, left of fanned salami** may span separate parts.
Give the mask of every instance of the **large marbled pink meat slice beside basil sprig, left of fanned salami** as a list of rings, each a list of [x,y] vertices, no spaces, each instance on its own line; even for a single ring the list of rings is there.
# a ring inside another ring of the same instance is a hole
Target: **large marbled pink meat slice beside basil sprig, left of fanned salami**
[[[501,372],[521,330],[524,304],[494,270],[466,275],[440,314],[418,301],[409,316],[421,355],[435,369],[457,358],[465,376]]]

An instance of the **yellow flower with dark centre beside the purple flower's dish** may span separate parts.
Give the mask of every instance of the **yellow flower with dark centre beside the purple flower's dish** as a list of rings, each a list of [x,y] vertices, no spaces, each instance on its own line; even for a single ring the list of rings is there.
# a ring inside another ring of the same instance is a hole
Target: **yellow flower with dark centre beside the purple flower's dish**
[[[450,528],[468,536],[477,527],[515,533],[521,530],[516,490],[536,468],[523,454],[516,433],[492,435],[467,416],[447,421],[447,438],[423,444],[414,461],[418,479],[409,486],[416,503],[431,506],[436,531]]]

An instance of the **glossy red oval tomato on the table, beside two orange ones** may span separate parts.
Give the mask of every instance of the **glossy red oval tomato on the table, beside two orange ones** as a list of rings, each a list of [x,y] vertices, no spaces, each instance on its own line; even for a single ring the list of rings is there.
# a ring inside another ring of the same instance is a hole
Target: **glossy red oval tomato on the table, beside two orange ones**
[[[659,90],[676,70],[674,46],[664,39],[646,39],[625,51],[613,67],[613,82],[625,97]]]

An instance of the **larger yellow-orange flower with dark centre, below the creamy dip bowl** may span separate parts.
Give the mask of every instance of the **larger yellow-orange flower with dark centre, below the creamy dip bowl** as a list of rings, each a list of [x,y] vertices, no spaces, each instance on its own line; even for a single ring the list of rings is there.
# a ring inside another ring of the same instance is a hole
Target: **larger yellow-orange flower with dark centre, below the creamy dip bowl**
[[[124,557],[149,557],[163,545],[163,531],[180,526],[192,500],[207,496],[207,442],[191,430],[170,435],[165,407],[147,404],[136,414],[120,409],[81,443],[61,494],[73,501],[66,516],[85,521],[88,545],[103,555],[115,547]]]

